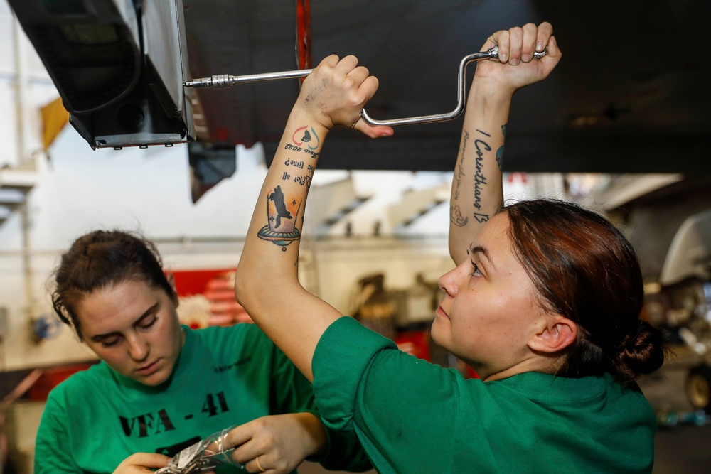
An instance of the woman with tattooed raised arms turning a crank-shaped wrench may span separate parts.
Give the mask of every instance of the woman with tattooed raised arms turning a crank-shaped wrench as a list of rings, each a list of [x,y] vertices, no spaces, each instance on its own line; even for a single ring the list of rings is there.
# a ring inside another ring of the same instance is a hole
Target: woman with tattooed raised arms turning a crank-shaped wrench
[[[433,340],[480,379],[429,364],[299,285],[299,232],[328,130],[370,137],[360,110],[377,80],[355,58],[306,78],[257,200],[235,294],[314,382],[326,423],[352,431],[380,473],[648,473],[656,418],[634,384],[663,362],[638,320],[629,242],[603,217],[535,200],[503,208],[511,98],[561,52],[552,26],[494,33],[499,61],[476,67],[451,193],[451,256]],[[547,55],[533,59],[535,51]],[[303,167],[300,163],[304,163]]]

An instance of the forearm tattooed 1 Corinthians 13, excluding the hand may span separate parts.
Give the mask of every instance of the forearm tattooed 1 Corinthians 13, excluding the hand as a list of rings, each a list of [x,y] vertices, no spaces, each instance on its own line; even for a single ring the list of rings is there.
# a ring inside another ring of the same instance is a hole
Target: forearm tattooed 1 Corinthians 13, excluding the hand
[[[449,254],[457,265],[503,204],[503,142],[512,95],[476,80],[469,92],[449,208]]]

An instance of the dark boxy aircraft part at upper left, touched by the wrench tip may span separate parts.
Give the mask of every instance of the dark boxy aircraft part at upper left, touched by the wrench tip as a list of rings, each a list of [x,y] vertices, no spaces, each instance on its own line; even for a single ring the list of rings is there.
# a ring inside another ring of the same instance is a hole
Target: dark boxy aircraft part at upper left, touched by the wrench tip
[[[9,0],[92,148],[194,138],[181,0]]]

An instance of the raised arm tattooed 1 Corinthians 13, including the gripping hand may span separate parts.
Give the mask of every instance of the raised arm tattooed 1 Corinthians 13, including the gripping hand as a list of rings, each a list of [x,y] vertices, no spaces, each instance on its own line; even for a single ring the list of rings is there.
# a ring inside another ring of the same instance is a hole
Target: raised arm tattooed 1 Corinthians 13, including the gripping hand
[[[498,46],[499,61],[476,65],[464,112],[459,154],[454,167],[449,208],[449,254],[459,265],[469,244],[503,205],[503,141],[513,93],[538,82],[555,68],[561,53],[550,23],[494,33],[482,50]],[[534,51],[548,48],[533,59]]]

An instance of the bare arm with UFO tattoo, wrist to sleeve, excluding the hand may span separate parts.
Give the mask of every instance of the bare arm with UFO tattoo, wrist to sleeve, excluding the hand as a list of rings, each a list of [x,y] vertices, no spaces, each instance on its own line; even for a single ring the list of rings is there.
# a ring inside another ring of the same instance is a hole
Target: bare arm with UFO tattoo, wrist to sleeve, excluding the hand
[[[237,300],[309,379],[321,333],[341,316],[298,281],[306,196],[327,134],[294,107],[257,198],[235,276]],[[316,313],[316,307],[324,311]]]

